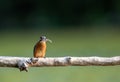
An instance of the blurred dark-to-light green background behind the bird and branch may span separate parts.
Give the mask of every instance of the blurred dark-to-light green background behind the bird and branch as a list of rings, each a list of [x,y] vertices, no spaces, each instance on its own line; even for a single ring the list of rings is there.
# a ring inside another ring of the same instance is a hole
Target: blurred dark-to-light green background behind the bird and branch
[[[0,55],[33,57],[41,35],[47,57],[119,56],[119,0],[0,0]],[[120,82],[119,66],[0,68],[0,82]]]

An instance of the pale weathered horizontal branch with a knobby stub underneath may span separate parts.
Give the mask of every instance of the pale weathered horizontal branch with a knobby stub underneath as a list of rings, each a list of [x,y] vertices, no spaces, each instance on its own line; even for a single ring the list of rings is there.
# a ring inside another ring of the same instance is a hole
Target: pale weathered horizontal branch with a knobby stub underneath
[[[28,58],[0,56],[0,67],[15,67],[28,71],[28,67],[45,66],[114,66],[120,65],[120,56],[116,57],[49,57]]]

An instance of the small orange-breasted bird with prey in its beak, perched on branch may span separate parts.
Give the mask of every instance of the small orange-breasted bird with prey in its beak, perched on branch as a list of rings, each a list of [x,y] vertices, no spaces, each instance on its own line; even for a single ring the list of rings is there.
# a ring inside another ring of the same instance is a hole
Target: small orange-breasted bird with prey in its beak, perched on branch
[[[52,43],[52,40],[47,39],[46,36],[40,37],[40,40],[34,46],[34,50],[33,50],[34,58],[45,58],[47,41]]]

